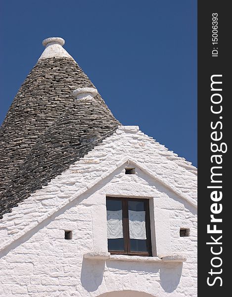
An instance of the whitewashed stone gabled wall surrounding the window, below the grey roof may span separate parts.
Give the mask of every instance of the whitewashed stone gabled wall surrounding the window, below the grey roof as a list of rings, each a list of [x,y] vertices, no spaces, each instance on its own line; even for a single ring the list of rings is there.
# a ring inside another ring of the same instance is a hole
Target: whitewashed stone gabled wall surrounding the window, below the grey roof
[[[128,165],[136,175],[125,175]],[[107,252],[106,196],[149,198],[153,255],[179,254],[186,262],[83,258]],[[181,227],[190,228],[189,237],[180,237]],[[73,231],[72,240],[64,240],[64,230]],[[124,296],[127,290],[197,296],[196,168],[138,127],[120,127],[3,216],[0,256],[1,297],[96,297],[122,290]]]

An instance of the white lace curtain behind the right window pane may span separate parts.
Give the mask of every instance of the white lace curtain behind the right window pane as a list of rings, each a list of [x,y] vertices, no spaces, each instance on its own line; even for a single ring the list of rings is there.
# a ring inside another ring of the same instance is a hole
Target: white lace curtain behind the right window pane
[[[128,210],[131,239],[146,239],[145,211]]]

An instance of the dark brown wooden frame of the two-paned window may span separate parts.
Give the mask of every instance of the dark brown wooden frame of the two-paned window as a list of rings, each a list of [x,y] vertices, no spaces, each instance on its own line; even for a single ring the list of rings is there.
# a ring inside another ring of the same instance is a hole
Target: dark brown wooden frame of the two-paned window
[[[106,197],[106,200],[121,200],[122,201],[123,239],[124,239],[124,250],[108,250],[108,251],[111,254],[117,254],[117,255],[121,254],[121,255],[131,255],[131,256],[152,256],[149,199]],[[142,201],[142,202],[144,202],[147,251],[131,251],[130,233],[129,233],[128,201],[140,201],[140,202]]]

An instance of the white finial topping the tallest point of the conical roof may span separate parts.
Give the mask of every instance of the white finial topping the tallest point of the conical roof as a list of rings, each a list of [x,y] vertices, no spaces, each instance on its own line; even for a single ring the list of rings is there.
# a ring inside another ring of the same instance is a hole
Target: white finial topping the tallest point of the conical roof
[[[64,45],[63,38],[60,37],[50,37],[43,40],[43,46],[45,50],[40,56],[39,60],[47,59],[52,57],[68,57],[73,59],[73,57],[62,47]]]

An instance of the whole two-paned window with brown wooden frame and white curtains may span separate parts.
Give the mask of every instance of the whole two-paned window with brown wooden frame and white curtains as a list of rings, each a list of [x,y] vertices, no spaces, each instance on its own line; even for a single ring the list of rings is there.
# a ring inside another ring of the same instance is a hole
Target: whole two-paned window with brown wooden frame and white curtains
[[[149,199],[106,198],[111,254],[151,256]]]

